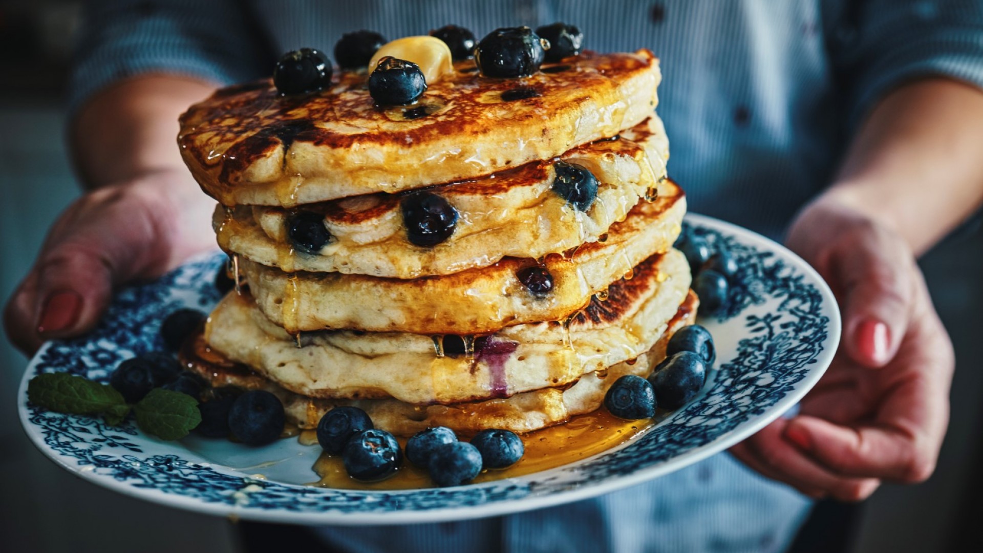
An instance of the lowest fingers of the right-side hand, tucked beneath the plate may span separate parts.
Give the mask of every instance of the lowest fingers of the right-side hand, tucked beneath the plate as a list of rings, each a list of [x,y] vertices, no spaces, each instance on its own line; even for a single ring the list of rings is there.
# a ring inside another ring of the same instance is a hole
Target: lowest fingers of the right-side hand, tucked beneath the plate
[[[765,476],[817,499],[832,495],[840,501],[860,501],[878,488],[877,478],[844,476],[810,460],[784,436],[787,424],[786,420],[773,422],[731,453]]]

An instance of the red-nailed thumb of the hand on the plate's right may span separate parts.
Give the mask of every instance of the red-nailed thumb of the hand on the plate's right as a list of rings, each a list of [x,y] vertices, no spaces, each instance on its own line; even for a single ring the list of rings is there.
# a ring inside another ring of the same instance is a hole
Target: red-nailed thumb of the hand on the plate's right
[[[867,367],[894,358],[907,330],[917,268],[911,251],[877,227],[854,231],[831,256],[849,356]]]

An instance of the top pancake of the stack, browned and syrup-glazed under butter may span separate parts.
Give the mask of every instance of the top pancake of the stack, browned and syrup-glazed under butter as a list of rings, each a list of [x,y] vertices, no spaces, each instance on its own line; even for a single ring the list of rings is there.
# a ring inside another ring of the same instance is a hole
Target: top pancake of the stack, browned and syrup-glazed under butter
[[[376,107],[367,79],[338,72],[329,90],[301,95],[270,80],[221,89],[181,116],[184,160],[226,206],[400,192],[612,137],[651,115],[661,74],[645,49],[585,52],[521,79],[482,77],[469,60],[393,108]]]

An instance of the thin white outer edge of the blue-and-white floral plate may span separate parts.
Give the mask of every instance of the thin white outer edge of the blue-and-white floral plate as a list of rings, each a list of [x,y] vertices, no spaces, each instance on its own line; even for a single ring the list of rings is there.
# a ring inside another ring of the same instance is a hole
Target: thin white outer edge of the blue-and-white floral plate
[[[279,522],[279,523],[289,523],[289,524],[341,524],[341,525],[369,525],[369,524],[404,524],[404,523],[421,523],[421,522],[449,522],[449,521],[466,521],[473,519],[481,519],[486,517],[501,516],[507,514],[522,513],[526,511],[531,511],[535,509],[543,509],[547,507],[563,505],[567,503],[572,503],[575,501],[581,501],[589,499],[592,497],[597,497],[604,495],[613,491],[621,490],[632,485],[636,485],[648,480],[652,480],[669,472],[678,470],[684,466],[703,461],[713,455],[723,453],[725,450],[729,449],[731,446],[747,439],[751,435],[757,433],[759,430],[771,424],[773,421],[778,419],[782,414],[784,414],[789,408],[791,408],[795,403],[801,400],[816,383],[823,377],[826,373],[827,368],[833,360],[838,349],[838,343],[841,333],[841,318],[838,309],[838,304],[836,298],[833,295],[832,290],[827,284],[826,280],[820,276],[815,269],[812,268],[805,260],[800,258],[794,252],[785,248],[779,242],[772,240],[766,236],[763,236],[753,230],[743,228],[736,224],[723,221],[721,219],[711,217],[708,215],[699,215],[689,213],[685,215],[685,220],[688,223],[696,224],[698,226],[704,226],[713,228],[725,233],[731,234],[737,237],[739,240],[750,243],[757,249],[767,252],[773,252],[775,254],[781,255],[782,261],[793,266],[795,271],[800,272],[802,275],[809,279],[809,282],[816,286],[822,295],[823,299],[829,302],[829,321],[826,327],[828,333],[828,338],[825,341],[829,346],[824,347],[822,351],[817,355],[815,362],[803,376],[803,378],[795,383],[793,390],[789,391],[784,397],[776,401],[774,404],[769,406],[764,413],[754,415],[754,417],[747,421],[745,424],[727,431],[722,436],[717,439],[700,446],[693,448],[681,455],[673,457],[665,462],[654,464],[652,466],[644,467],[638,469],[630,474],[612,475],[608,476],[599,481],[586,482],[578,485],[576,488],[567,489],[562,492],[538,495],[538,496],[526,496],[518,499],[504,499],[500,501],[494,501],[491,503],[481,503],[471,506],[455,506],[450,508],[434,508],[428,510],[395,510],[395,511],[384,511],[384,512],[352,512],[343,513],[338,511],[324,511],[324,512],[292,512],[283,509],[266,509],[263,507],[251,507],[251,506],[241,506],[238,504],[226,504],[226,503],[214,503],[204,501],[200,498],[185,496],[174,493],[166,493],[156,488],[144,488],[133,485],[129,481],[120,481],[109,475],[104,475],[96,472],[94,467],[91,465],[78,465],[72,464],[71,459],[67,456],[61,455],[59,452],[52,450],[44,443],[43,436],[39,431],[39,426],[34,425],[29,420],[29,410],[27,401],[27,386],[29,382],[29,377],[32,376],[32,369],[34,365],[38,362],[40,356],[49,348],[53,342],[47,341],[37,350],[37,352],[30,358],[27,367],[25,368],[24,375],[21,379],[21,385],[18,390],[18,413],[21,420],[22,430],[27,434],[30,442],[37,448],[45,458],[53,461],[56,465],[68,470],[77,477],[80,477],[87,482],[91,482],[95,485],[99,485],[103,488],[110,489],[114,492],[121,493],[127,497],[133,497],[137,499],[142,499],[150,503],[164,505],[167,507],[184,509],[187,511],[201,513],[203,515],[216,516],[216,517],[226,517],[235,520],[245,520],[245,521],[257,521],[257,522]],[[213,255],[213,253],[205,254]],[[186,263],[194,261],[195,258],[189,259]],[[145,434],[141,434],[143,439],[149,439],[157,441],[154,438],[148,437]],[[633,441],[625,442],[619,446],[608,449],[604,452],[598,453],[589,458],[583,460],[574,461],[568,464],[562,465],[562,467],[571,467],[579,464],[583,464],[590,461],[595,461],[612,452],[618,451],[622,448],[628,447]],[[193,453],[193,452],[192,452]],[[227,467],[222,464],[209,463],[209,462],[196,462],[200,466],[210,466],[212,469],[230,475],[235,475],[241,478],[249,478],[248,474],[242,471],[235,470],[231,467]],[[560,467],[552,468],[549,470],[556,470]],[[459,489],[464,487],[492,487],[500,486],[508,482],[523,482],[529,476],[533,474],[544,474],[546,471],[534,472],[529,475],[523,475],[513,478],[505,478],[500,480],[494,480],[492,482],[484,482],[481,484],[470,484],[468,486],[460,486],[455,488],[447,488],[448,490]],[[306,486],[302,484],[290,484],[284,482],[277,482],[280,485],[287,486],[290,488],[298,489],[324,489],[325,492],[328,489],[325,488],[314,488],[311,486]],[[401,494],[412,494],[419,490],[369,490],[363,492],[359,490],[359,493],[366,493],[371,495],[373,493],[385,493],[392,496],[398,496]]]

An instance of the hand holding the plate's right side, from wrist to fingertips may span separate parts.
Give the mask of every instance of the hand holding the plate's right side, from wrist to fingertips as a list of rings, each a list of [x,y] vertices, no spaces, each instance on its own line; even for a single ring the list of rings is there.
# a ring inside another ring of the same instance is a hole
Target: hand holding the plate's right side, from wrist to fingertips
[[[833,288],[842,338],[799,413],[730,452],[815,498],[859,501],[885,480],[925,480],[949,421],[954,353],[910,249],[829,197],[796,218],[787,244]]]

